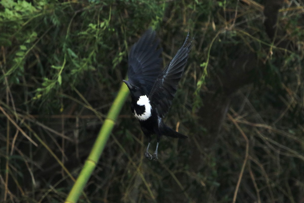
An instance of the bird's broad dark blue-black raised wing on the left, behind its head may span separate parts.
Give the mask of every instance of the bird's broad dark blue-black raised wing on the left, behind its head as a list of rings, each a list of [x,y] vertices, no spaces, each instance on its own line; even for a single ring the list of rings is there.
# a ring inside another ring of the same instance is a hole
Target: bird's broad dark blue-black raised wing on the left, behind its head
[[[155,31],[150,28],[131,47],[129,54],[129,81],[141,87],[147,96],[161,73],[162,49],[157,49],[159,41]]]

